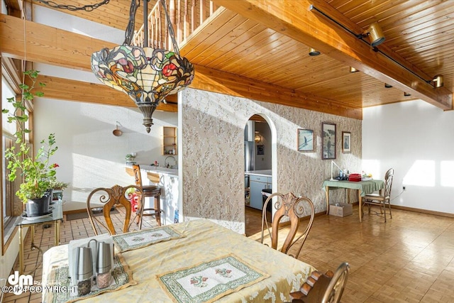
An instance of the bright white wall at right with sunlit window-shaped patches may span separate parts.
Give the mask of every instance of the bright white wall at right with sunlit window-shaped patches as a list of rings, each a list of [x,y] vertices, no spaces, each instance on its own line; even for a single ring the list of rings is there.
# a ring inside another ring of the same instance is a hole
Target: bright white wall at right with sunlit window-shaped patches
[[[453,214],[453,134],[454,111],[425,101],[364,109],[363,169],[383,179],[394,167],[392,204]]]

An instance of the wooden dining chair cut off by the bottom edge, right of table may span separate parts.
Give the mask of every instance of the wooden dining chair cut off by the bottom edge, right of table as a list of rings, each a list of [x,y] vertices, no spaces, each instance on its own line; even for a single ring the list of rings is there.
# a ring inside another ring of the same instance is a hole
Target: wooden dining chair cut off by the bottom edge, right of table
[[[338,303],[348,280],[350,265],[341,263],[336,272],[314,271],[301,285],[298,292],[292,292],[292,303]]]

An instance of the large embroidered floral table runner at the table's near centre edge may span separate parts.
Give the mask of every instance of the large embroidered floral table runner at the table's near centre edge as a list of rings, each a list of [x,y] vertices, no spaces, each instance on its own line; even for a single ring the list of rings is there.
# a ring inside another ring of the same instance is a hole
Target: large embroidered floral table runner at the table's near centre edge
[[[267,277],[235,255],[157,276],[162,289],[177,303],[214,302]]]

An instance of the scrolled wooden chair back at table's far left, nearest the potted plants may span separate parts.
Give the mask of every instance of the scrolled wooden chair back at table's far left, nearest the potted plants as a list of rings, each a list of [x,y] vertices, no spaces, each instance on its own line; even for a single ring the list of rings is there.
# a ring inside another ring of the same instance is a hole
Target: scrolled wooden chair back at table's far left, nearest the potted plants
[[[127,233],[129,231],[131,223],[134,221],[134,218],[131,220],[131,216],[137,216],[132,211],[132,192],[142,192],[142,190],[135,185],[128,185],[127,187],[114,185],[111,188],[99,187],[90,192],[87,198],[87,212],[95,235],[105,231],[108,231],[110,235],[116,235],[117,231],[119,233]],[[139,199],[141,199],[139,203],[143,204],[143,195]],[[117,220],[115,223],[112,220],[111,211],[120,205],[124,207],[124,218],[123,222],[118,224]],[[96,216],[94,213],[94,209],[99,208],[102,209],[103,216]],[[141,226],[139,226],[140,228]]]

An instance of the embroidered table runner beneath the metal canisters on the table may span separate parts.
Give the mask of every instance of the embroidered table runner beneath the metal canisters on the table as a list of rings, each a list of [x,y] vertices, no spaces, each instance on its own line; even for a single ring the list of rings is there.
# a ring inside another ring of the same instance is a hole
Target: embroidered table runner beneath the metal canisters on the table
[[[87,299],[89,297],[97,296],[104,292],[114,292],[116,290],[122,290],[130,285],[136,285],[137,282],[133,280],[131,270],[125,263],[121,254],[116,254],[114,257],[114,267],[112,268],[112,281],[109,287],[99,290],[99,288],[92,287],[92,291],[84,296],[72,296],[71,294],[77,293],[77,288],[70,285],[71,278],[69,277],[68,265],[62,265],[56,268],[52,268],[48,275],[48,296],[45,302],[52,303],[68,303],[76,302],[81,299]],[[74,289],[74,292],[71,290]]]

